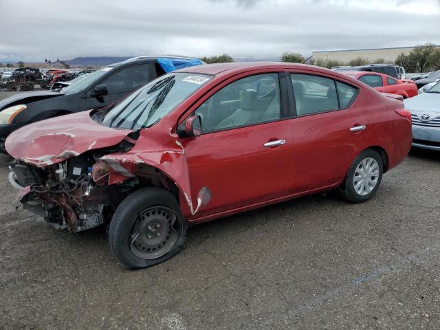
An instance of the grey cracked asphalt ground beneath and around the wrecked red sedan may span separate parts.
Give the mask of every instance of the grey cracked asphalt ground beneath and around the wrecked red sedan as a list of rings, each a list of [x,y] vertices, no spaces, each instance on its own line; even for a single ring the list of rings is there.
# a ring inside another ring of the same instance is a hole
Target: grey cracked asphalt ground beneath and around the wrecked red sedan
[[[314,195],[196,225],[138,271],[104,228],[67,234],[15,210],[9,161],[0,329],[440,328],[440,153],[412,151],[366,203]]]

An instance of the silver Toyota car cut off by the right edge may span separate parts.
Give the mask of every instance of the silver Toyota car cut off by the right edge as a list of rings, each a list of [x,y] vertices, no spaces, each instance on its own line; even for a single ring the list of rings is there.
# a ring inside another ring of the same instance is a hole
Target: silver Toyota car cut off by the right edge
[[[411,111],[412,146],[440,151],[440,83],[404,104]]]

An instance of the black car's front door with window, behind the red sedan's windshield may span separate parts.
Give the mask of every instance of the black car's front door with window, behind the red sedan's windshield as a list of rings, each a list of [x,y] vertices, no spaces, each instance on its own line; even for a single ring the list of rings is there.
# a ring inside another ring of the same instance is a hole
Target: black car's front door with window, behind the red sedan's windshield
[[[106,107],[111,102],[120,100],[131,93],[131,91],[146,85],[146,83],[153,78],[154,76],[150,74],[149,63],[130,65],[128,67],[122,67],[122,69],[116,69],[114,72],[112,71],[109,76],[106,76],[94,85],[94,87],[96,85],[106,85],[109,94],[94,97],[91,95],[94,91],[94,87],[89,89],[86,94],[87,109]]]

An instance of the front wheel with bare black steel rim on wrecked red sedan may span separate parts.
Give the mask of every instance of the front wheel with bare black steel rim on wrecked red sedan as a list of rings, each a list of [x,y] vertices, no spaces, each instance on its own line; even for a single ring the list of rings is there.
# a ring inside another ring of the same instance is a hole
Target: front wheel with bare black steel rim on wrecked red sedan
[[[110,250],[127,268],[157,265],[181,250],[187,230],[179,203],[168,190],[142,188],[115,210],[109,228]]]

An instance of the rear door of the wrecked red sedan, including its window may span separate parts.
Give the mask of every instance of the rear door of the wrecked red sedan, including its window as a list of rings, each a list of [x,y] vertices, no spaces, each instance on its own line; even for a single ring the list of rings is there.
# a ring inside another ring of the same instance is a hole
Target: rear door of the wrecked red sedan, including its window
[[[360,108],[359,87],[329,76],[289,74],[297,118],[289,120],[294,142],[289,168],[294,192],[330,187],[342,181],[364,149],[368,118]]]

